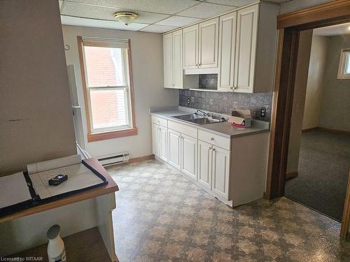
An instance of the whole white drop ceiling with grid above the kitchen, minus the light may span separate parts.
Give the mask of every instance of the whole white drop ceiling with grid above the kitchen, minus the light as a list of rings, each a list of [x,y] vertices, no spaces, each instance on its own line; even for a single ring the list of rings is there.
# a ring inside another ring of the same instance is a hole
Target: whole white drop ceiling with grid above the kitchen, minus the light
[[[59,0],[59,10],[62,24],[164,33],[255,2],[258,0]],[[120,11],[137,13],[137,20],[125,26],[113,15]]]

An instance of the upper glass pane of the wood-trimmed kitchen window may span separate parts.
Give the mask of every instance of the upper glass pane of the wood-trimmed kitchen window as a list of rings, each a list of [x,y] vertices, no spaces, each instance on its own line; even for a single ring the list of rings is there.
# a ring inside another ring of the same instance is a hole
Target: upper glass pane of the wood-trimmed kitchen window
[[[83,46],[87,87],[127,85],[125,53],[122,48]]]

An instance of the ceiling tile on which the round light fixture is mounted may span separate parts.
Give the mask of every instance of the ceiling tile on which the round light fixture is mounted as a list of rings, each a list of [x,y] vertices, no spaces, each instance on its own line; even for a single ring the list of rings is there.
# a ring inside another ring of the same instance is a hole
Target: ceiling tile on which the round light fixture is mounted
[[[115,21],[116,18],[114,17],[113,13],[116,13],[118,11],[123,11],[123,10],[124,9],[92,6],[92,5],[85,5],[82,3],[73,3],[71,1],[67,1],[63,6],[61,15]],[[130,11],[134,11],[134,10],[130,10]],[[164,20],[165,18],[169,17],[169,15],[161,15],[156,13],[147,13],[147,12],[139,12],[139,11],[134,11],[134,12],[139,15],[139,17],[137,17],[137,20],[135,22],[141,23],[141,24],[153,24],[155,22]]]

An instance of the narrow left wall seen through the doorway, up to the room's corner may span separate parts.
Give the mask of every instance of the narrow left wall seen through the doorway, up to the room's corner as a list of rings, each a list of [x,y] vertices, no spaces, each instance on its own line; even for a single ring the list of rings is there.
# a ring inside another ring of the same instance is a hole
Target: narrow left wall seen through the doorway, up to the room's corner
[[[327,43],[328,37],[326,36],[312,36],[302,129],[311,129],[319,126]]]

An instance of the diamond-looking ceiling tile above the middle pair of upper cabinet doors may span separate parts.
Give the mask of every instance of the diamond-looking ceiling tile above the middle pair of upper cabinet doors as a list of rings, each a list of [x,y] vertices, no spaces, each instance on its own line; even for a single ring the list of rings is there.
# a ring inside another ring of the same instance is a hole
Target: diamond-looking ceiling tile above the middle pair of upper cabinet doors
[[[221,6],[215,3],[200,3],[197,6],[190,7],[176,15],[197,17],[197,18],[209,18],[215,15],[235,10],[235,6]]]

